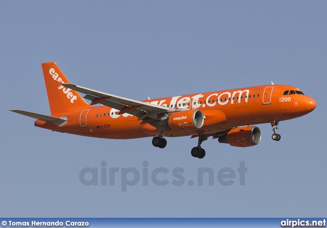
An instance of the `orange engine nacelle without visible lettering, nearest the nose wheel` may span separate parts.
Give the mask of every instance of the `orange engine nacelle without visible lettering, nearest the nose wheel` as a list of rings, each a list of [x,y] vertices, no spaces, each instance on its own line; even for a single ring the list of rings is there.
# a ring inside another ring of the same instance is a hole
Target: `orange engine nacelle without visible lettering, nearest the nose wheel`
[[[258,144],[261,140],[261,131],[258,126],[243,126],[231,129],[226,136],[219,137],[220,143],[229,143],[231,146],[247,147]]]

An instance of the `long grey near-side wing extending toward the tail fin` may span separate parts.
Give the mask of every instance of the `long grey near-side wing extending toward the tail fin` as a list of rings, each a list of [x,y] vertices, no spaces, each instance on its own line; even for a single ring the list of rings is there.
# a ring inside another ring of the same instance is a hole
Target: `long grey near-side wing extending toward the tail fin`
[[[84,98],[91,100],[92,101],[91,105],[102,104],[110,108],[120,110],[120,112],[118,113],[120,115],[124,113],[128,113],[137,116],[138,119],[144,119],[146,117],[156,119],[157,114],[159,113],[176,111],[176,109],[170,109],[169,107],[162,107],[154,104],[140,102],[138,100],[88,89],[75,84],[65,83],[62,85],[69,89],[73,89],[78,92],[87,94],[84,96]]]

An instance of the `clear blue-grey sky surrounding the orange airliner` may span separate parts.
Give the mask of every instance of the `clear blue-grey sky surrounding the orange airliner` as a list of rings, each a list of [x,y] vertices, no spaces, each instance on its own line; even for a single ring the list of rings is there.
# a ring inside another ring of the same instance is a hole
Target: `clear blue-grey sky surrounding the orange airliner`
[[[326,7],[323,1],[0,2],[0,214],[325,216]],[[33,119],[9,112],[50,114],[40,65],[50,61],[72,83],[138,100],[273,81],[300,88],[317,108],[280,122],[279,142],[271,139],[269,123],[259,124],[259,145],[237,148],[208,139],[202,144],[206,157],[194,159],[190,150],[197,139],[190,137],[168,138],[167,147],[158,149],[151,137],[61,134],[35,128]],[[238,172],[242,162],[244,186]],[[80,172],[87,167],[98,169],[98,185],[81,183]],[[119,168],[114,185],[101,186],[101,168]],[[169,184],[152,182],[157,168],[169,171],[158,174]],[[176,168],[184,170],[181,186],[173,184]],[[214,171],[213,185],[204,178],[198,186],[198,168]],[[230,186],[218,182],[224,168],[236,173]],[[123,170],[141,175],[126,192]]]

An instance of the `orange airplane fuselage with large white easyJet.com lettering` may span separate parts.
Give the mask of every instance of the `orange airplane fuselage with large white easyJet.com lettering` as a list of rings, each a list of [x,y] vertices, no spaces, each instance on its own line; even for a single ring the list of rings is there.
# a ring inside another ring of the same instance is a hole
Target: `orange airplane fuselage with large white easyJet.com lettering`
[[[235,126],[288,120],[305,115],[315,108],[316,104],[311,97],[299,93],[284,95],[285,91],[300,90],[287,85],[263,85],[157,98],[143,102],[180,110],[197,109],[204,114],[209,110],[219,110],[226,116],[224,123],[211,125],[209,128],[194,131],[175,131],[168,128],[162,132],[162,136],[165,137],[178,137],[214,134]],[[36,120],[35,125],[58,132],[111,139],[158,135],[158,130],[149,124],[150,119],[138,120],[136,116],[107,106],[68,110],[55,116],[65,117],[67,122],[57,125]],[[204,124],[206,121],[209,119],[204,119]]]

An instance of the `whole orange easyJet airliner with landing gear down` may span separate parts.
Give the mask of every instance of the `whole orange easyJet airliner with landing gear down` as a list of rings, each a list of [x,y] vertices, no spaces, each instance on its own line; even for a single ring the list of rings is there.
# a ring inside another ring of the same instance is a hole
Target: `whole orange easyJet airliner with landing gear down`
[[[10,110],[37,119],[35,126],[106,139],[152,136],[159,148],[167,145],[164,137],[198,137],[191,155],[200,159],[205,156],[201,143],[208,137],[231,146],[253,146],[260,142],[261,131],[252,124],[270,123],[272,139],[279,141],[279,121],[316,108],[315,100],[300,89],[273,83],[138,101],[71,84],[54,62],[42,63],[42,70],[51,116]]]

